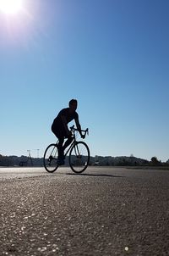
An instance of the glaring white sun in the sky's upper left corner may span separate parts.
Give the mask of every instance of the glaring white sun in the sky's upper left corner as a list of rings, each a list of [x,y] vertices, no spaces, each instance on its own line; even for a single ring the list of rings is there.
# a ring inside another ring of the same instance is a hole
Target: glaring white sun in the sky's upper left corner
[[[23,0],[0,0],[0,11],[4,14],[17,14],[23,7]]]

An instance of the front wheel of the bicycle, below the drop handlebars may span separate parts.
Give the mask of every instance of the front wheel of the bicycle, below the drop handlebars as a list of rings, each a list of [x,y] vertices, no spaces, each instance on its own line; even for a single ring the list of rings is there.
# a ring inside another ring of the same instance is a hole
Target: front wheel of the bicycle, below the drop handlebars
[[[75,173],[83,172],[90,162],[90,149],[85,142],[76,142],[70,149],[69,165]]]

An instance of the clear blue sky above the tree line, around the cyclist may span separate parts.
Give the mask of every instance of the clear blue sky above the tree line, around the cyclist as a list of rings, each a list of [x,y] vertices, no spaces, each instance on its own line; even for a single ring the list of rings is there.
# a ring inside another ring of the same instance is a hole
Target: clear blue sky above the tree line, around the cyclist
[[[92,156],[169,159],[168,13],[168,0],[25,0],[0,12],[0,153],[42,156],[77,98]]]

